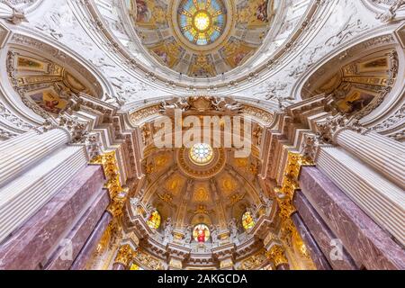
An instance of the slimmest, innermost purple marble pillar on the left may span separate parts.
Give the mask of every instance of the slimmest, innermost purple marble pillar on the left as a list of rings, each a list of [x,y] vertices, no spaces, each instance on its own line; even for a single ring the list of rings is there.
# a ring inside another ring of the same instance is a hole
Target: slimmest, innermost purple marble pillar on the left
[[[112,215],[110,212],[104,212],[103,217],[97,223],[92,235],[85,242],[85,246],[80,251],[79,255],[76,257],[75,262],[70,267],[70,270],[84,270],[87,262],[93,256],[94,250],[100,239],[103,237],[103,233],[107,229],[108,225],[112,221]]]

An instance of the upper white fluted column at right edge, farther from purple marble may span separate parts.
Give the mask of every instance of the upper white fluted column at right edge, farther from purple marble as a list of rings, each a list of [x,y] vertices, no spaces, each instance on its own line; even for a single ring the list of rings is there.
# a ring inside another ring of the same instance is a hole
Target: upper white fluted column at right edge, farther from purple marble
[[[405,146],[381,135],[341,130],[336,143],[405,189]],[[392,143],[393,142],[393,143]]]

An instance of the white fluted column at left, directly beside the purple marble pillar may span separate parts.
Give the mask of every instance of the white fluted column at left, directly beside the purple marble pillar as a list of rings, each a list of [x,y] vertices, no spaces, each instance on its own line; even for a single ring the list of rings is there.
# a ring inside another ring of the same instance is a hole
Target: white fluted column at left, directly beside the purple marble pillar
[[[23,225],[87,165],[84,146],[65,146],[0,188],[0,242]]]

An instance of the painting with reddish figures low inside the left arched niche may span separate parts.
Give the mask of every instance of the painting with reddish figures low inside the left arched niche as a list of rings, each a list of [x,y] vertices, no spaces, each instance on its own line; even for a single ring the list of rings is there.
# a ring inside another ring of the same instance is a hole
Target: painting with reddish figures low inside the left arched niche
[[[32,102],[36,103],[46,112],[58,115],[67,106],[67,99],[60,97],[54,89],[48,88],[26,95]]]

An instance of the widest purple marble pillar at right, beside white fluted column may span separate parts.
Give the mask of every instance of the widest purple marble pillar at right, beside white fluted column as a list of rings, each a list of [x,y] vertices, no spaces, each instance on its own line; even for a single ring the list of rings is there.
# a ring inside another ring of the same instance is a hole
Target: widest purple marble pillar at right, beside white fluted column
[[[302,168],[302,193],[339,238],[356,263],[366,269],[405,269],[405,252],[345,193],[316,167]]]

